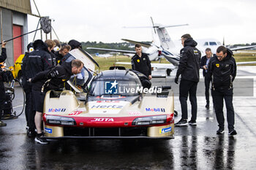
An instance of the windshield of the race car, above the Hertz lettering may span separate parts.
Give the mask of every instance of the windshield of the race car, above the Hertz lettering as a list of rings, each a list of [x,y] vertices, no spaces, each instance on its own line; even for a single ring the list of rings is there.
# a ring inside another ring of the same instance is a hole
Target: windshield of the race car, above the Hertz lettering
[[[142,90],[140,82],[125,80],[97,80],[91,82],[89,95],[121,95],[121,96],[137,96]]]

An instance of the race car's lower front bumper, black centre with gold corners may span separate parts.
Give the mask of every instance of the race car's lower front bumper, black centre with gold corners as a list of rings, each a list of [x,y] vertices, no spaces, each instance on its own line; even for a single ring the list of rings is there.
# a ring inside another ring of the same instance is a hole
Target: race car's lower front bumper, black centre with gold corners
[[[45,137],[49,139],[173,139],[174,123],[127,128],[81,128],[77,126],[45,125]]]

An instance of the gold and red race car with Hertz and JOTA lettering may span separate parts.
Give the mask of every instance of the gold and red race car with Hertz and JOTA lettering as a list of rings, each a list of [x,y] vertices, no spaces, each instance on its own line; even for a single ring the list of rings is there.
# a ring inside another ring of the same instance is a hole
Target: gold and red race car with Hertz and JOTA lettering
[[[46,93],[46,138],[174,138],[170,87],[143,88],[135,72],[113,69],[97,74],[86,90]]]

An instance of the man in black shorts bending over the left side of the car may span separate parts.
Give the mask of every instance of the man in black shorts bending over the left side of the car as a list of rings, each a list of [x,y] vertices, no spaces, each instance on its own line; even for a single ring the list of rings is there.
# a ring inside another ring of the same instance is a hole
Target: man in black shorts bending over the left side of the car
[[[44,105],[45,93],[48,90],[59,90],[63,88],[64,82],[70,79],[72,74],[78,74],[83,69],[83,62],[75,59],[71,62],[64,62],[62,65],[53,67],[45,72],[39,72],[31,80],[32,94],[34,97],[34,106],[36,115],[34,123],[37,128],[37,137],[34,139],[40,144],[48,144],[48,141],[42,138],[42,112]]]

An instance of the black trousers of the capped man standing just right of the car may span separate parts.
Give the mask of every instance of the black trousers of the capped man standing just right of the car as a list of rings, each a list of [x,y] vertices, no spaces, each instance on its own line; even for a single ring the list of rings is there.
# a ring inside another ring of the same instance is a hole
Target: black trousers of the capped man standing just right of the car
[[[191,104],[191,120],[197,119],[197,83],[189,80],[181,80],[179,85],[179,101],[181,102],[182,119],[187,119],[187,97]]]

